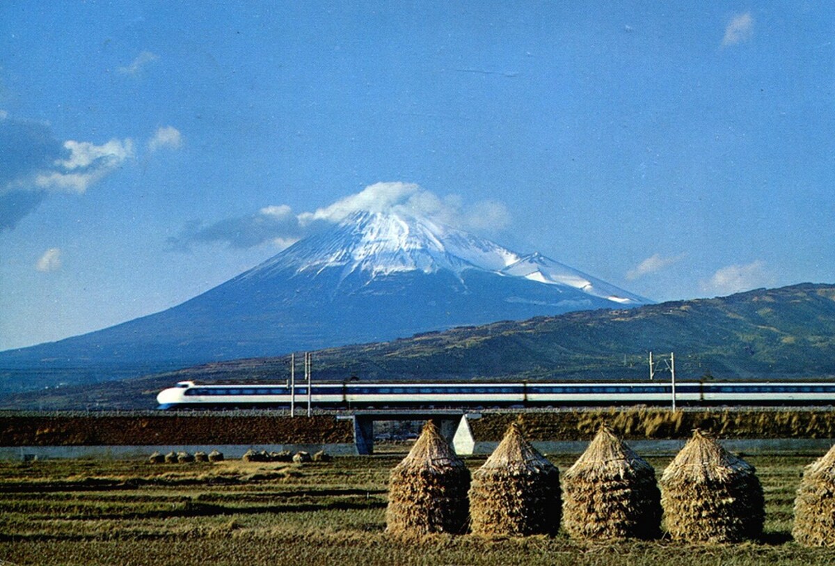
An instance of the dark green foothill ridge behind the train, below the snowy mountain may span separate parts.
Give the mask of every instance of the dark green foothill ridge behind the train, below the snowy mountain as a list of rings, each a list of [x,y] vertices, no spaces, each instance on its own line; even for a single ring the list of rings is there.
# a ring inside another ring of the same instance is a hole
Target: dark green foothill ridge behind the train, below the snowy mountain
[[[831,379],[835,285],[806,283],[579,311],[331,348],[314,352],[313,376],[317,381],[635,381],[648,379],[649,351],[675,351],[681,381]],[[160,389],[181,380],[285,382],[289,371],[289,356],[225,361],[8,396],[3,407],[150,408]]]

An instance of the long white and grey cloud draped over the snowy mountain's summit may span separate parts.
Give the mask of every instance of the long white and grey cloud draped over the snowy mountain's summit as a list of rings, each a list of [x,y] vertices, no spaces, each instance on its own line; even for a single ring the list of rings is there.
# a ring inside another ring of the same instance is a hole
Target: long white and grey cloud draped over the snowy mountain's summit
[[[207,242],[225,242],[240,248],[271,242],[284,248],[316,231],[322,224],[341,222],[359,211],[426,218],[476,231],[502,230],[511,220],[507,207],[495,200],[465,205],[458,195],[441,199],[417,184],[376,183],[313,212],[296,214],[288,205],[271,205],[256,214],[227,218],[208,226],[192,223],[185,226],[180,236],[171,238],[169,244],[179,250]]]

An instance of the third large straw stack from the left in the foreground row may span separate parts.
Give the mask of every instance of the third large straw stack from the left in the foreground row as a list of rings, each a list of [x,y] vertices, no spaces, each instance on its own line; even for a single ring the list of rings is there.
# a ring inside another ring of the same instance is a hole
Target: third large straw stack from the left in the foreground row
[[[563,524],[573,538],[655,538],[660,534],[655,469],[608,427],[600,427],[564,473],[563,491]]]

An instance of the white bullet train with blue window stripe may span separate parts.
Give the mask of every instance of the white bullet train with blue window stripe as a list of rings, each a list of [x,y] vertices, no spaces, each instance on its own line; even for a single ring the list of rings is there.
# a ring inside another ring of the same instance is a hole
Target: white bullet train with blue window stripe
[[[159,392],[159,409],[287,408],[288,384],[199,385],[179,382]],[[835,405],[832,382],[564,382],[361,383],[319,382],[310,401],[319,408],[574,407]],[[296,407],[307,386],[296,385]]]

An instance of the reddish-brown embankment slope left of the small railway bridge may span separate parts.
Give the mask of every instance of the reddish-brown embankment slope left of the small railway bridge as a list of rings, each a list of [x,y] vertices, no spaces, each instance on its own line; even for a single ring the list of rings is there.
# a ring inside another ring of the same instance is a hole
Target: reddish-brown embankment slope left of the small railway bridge
[[[7,447],[347,442],[353,442],[352,423],[332,416],[0,416],[0,446]]]

